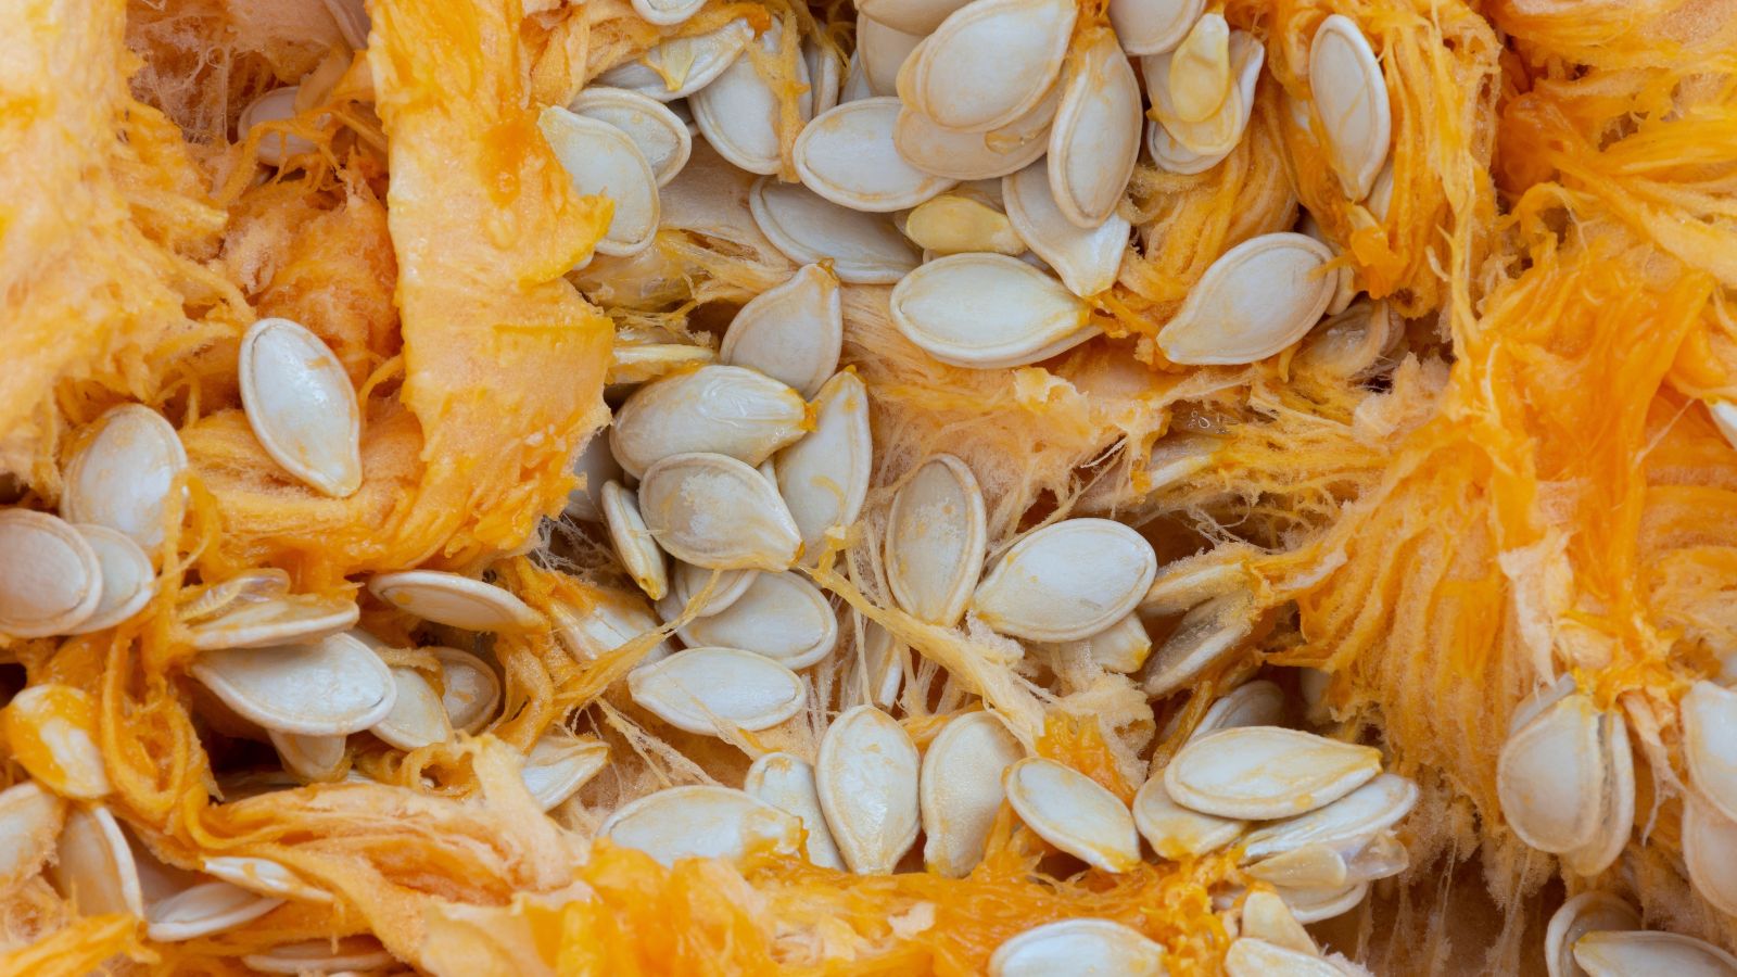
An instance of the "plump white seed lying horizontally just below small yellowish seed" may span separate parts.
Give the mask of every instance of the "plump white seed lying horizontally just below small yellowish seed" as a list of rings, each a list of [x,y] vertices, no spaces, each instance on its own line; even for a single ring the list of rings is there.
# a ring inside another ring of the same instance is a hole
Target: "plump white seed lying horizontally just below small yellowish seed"
[[[1004,254],[954,254],[900,280],[893,325],[943,363],[976,370],[1047,360],[1098,336],[1060,282]]]

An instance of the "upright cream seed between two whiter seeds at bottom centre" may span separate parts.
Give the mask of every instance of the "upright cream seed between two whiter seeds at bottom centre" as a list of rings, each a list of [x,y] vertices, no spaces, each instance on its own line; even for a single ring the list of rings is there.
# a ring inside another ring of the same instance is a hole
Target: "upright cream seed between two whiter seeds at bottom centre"
[[[964,878],[983,861],[988,831],[1007,796],[1002,772],[1023,756],[1025,748],[994,713],[966,713],[935,735],[917,782],[929,871]]]

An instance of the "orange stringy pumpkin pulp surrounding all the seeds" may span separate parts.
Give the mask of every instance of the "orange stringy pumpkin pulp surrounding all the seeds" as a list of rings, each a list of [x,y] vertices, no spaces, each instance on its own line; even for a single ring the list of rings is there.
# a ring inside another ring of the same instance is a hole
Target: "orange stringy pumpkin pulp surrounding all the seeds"
[[[0,661],[83,694],[56,720],[96,742],[104,805],[165,871],[262,857],[332,897],[155,942],[134,916],[80,914],[38,871],[52,838],[19,840],[0,866],[0,974],[231,974],[269,947],[353,937],[452,975],[973,974],[1014,934],[1073,916],[1146,934],[1172,974],[1218,972],[1233,934],[1214,894],[1247,881],[1233,854],[1056,876],[1065,862],[1006,805],[966,878],[853,876],[771,850],[664,867],[592,841],[650,784],[740,767],[723,756],[743,744],[664,742],[622,714],[611,687],[651,640],[577,661],[552,635],[500,635],[502,713],[486,732],[358,756],[358,782],[248,791],[221,775],[233,758],[207,753],[177,615],[210,582],[278,568],[299,593],[347,598],[379,570],[490,565],[551,617],[611,600],[584,553],[554,567],[521,548],[561,513],[575,452],[608,421],[615,351],[691,337],[695,302],[771,273],[728,242],[660,238],[677,311],[587,302],[570,269],[611,205],[575,193],[537,113],[667,37],[815,16],[714,0],[653,28],[624,0],[370,0],[368,47],[351,52],[325,9],[23,0],[0,31],[0,488],[52,508],[83,428],[125,402],[162,412],[189,459],[148,608],[92,635],[0,638]],[[1515,972],[1537,939],[1529,906],[1555,869],[1504,826],[1496,760],[1553,655],[1638,730],[1640,824],[1610,871],[1648,918],[1730,944],[1730,918],[1671,861],[1674,702],[1737,643],[1737,452],[1704,407],[1737,400],[1737,7],[1219,9],[1266,45],[1270,76],[1223,163],[1136,169],[1143,243],[1093,299],[1106,339],[1044,367],[961,370],[888,323],[882,290],[849,290],[844,360],[874,398],[877,457],[903,471],[961,455],[1006,539],[1034,506],[1072,504],[1093,466],[1138,473],[1167,431],[1218,436],[1211,471],[1167,487],[1166,511],[1218,544],[1197,560],[1230,560],[1251,614],[1282,635],[1265,661],[1331,675],[1344,735],[1379,742],[1424,789],[1405,826],[1410,873],[1381,921],[1369,911],[1351,932],[1383,972],[1445,970],[1456,935]],[[1292,111],[1308,38],[1334,12],[1369,37],[1393,104],[1384,216],[1344,200]],[[295,78],[294,120],[229,139],[238,106]],[[789,129],[796,87],[782,97]],[[309,141],[304,165],[255,179],[262,139],[283,134]],[[1358,287],[1405,318],[1391,382],[1351,389],[1308,344],[1249,367],[1171,363],[1153,337],[1188,289],[1299,205],[1343,243]],[[584,275],[610,268],[631,271],[598,257]],[[261,316],[307,323],[356,384],[354,495],[285,478],[254,438],[236,349]],[[981,697],[1124,801],[1143,756],[1160,765],[1240,676],[1205,675],[1162,735],[1138,690],[1040,692],[988,638],[875,600],[858,553],[882,530],[858,527],[862,546],[813,577],[914,648],[922,675],[950,675],[947,695]],[[363,621],[406,629],[380,605]],[[941,711],[907,699],[919,746]],[[556,727],[604,739],[622,772],[551,819],[519,765]],[[52,789],[66,772],[24,732],[0,723],[0,786]],[[1473,859],[1482,874],[1457,881]],[[1457,930],[1468,902],[1494,902],[1496,928]]]

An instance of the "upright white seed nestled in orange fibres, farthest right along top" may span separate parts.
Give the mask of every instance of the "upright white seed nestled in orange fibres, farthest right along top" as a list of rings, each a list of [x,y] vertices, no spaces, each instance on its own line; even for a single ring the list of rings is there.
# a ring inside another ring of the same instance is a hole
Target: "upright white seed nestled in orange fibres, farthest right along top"
[[[1381,64],[1357,21],[1332,14],[1315,30],[1308,87],[1344,195],[1351,200],[1369,196],[1376,174],[1388,162],[1393,116]]]

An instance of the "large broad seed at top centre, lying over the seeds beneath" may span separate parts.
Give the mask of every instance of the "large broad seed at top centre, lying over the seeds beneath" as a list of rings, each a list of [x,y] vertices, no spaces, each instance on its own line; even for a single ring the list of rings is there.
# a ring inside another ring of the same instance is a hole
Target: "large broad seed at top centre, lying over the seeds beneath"
[[[1061,73],[1079,9],[981,0],[947,17],[900,70],[900,96],[947,129],[983,132],[1035,106]]]

